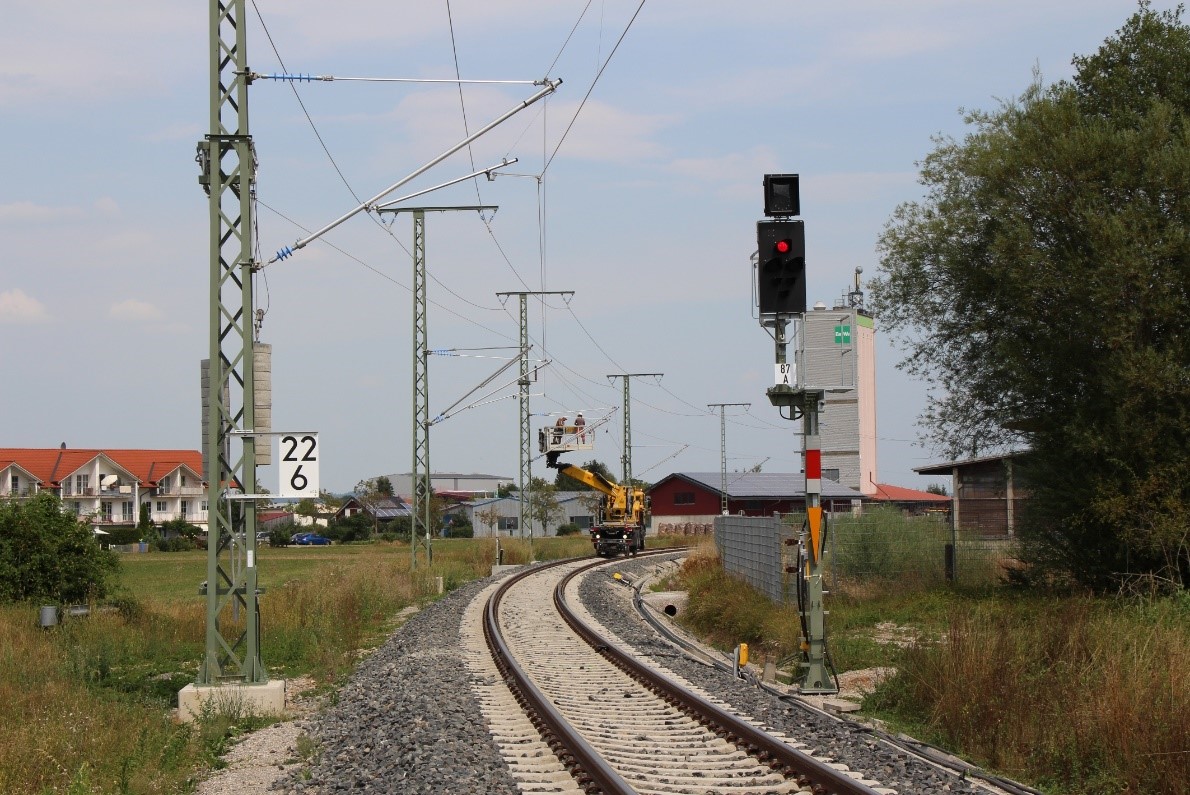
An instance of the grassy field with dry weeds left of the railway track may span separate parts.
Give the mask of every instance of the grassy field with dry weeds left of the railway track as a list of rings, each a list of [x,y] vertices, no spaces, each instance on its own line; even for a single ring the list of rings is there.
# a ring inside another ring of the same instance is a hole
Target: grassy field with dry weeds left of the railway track
[[[585,556],[583,537],[503,540],[506,563]],[[487,576],[495,542],[436,542],[409,570],[405,544],[262,549],[261,656],[273,676],[340,683],[409,605]],[[87,618],[38,627],[38,606],[0,606],[0,793],[187,793],[250,715],[175,722],[203,653],[205,552],[121,558],[117,595]]]

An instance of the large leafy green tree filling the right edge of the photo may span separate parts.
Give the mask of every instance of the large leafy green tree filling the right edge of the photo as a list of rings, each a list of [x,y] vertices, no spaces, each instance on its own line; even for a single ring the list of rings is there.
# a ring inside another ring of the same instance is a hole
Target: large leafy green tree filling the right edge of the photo
[[[948,456],[1028,446],[1022,540],[1096,588],[1190,581],[1190,29],[1147,2],[1071,81],[935,140],[873,309]]]

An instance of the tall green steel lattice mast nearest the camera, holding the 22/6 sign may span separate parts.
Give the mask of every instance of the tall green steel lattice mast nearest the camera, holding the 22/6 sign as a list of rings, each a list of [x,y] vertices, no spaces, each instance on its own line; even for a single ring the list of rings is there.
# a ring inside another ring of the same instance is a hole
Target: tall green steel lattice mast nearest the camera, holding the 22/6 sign
[[[199,182],[209,196],[211,292],[207,377],[206,653],[198,684],[263,684],[256,572],[256,401],[252,356],[252,202],[244,0],[209,2],[209,133],[199,142]],[[237,439],[236,445],[232,440]],[[237,457],[238,453],[238,457]],[[236,500],[233,492],[248,499]],[[243,568],[227,565],[242,539]],[[234,621],[231,614],[237,614]],[[242,627],[242,628],[239,628]]]

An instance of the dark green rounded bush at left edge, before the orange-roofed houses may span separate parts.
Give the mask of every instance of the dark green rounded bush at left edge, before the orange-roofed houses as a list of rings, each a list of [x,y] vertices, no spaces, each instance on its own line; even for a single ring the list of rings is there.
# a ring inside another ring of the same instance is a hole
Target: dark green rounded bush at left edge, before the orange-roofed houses
[[[0,502],[0,601],[102,597],[118,565],[54,493]]]

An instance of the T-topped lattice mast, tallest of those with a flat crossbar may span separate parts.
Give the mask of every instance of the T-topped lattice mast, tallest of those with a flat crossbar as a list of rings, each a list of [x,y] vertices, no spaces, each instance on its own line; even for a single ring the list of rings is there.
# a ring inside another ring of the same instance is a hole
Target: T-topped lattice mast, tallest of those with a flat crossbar
[[[430,475],[430,336],[426,302],[426,213],[457,209],[499,209],[491,205],[458,207],[377,207],[377,213],[413,213],[413,467],[409,522],[409,569],[418,568],[418,544],[426,550],[426,566],[433,565]]]

